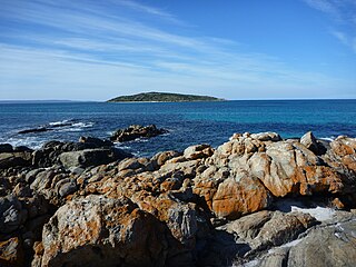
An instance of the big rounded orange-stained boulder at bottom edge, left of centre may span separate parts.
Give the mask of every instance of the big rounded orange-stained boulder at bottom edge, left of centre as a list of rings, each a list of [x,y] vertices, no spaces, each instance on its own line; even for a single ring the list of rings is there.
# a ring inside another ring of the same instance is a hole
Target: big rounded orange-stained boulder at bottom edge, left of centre
[[[161,222],[129,199],[89,196],[57,210],[42,246],[42,266],[165,266],[167,240]]]

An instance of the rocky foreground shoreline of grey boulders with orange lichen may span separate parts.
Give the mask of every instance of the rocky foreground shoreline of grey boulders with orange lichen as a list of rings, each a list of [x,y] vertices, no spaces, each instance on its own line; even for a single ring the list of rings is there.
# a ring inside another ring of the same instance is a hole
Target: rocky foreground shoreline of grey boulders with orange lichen
[[[0,145],[0,266],[355,266],[355,208],[344,136],[151,158],[91,137]]]

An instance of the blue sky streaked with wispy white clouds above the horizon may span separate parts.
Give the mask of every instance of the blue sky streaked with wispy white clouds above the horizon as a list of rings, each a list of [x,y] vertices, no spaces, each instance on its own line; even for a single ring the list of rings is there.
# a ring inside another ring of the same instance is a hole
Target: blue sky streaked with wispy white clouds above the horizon
[[[0,99],[356,98],[356,0],[2,0]]]

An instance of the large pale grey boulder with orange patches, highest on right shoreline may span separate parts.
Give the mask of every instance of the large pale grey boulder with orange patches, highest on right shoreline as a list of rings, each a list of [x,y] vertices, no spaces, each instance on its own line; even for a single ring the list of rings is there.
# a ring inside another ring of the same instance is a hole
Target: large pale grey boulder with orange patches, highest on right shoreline
[[[220,146],[210,164],[245,170],[275,197],[343,194],[347,179],[296,140],[260,141],[249,134],[236,135]]]

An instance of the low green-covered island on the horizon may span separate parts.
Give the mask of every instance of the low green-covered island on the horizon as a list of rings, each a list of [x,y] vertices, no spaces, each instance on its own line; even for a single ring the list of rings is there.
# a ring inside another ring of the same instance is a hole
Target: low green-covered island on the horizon
[[[181,95],[171,92],[142,92],[132,96],[121,96],[108,100],[108,102],[190,102],[190,101],[222,101],[224,99],[208,97]]]

